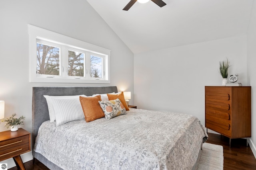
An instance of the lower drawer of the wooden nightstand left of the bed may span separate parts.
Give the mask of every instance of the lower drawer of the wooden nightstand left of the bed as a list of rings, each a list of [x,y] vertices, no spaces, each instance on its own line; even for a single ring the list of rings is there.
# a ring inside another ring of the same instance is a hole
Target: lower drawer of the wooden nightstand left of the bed
[[[0,150],[0,160],[12,158],[12,157],[20,155],[26,151],[29,151],[28,143],[25,143],[23,145],[16,145],[16,146],[10,147],[5,150]]]

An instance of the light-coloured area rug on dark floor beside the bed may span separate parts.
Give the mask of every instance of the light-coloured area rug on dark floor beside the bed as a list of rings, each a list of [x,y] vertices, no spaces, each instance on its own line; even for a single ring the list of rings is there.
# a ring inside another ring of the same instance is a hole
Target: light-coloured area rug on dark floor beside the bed
[[[197,162],[197,170],[223,170],[223,147],[204,143],[201,156]]]

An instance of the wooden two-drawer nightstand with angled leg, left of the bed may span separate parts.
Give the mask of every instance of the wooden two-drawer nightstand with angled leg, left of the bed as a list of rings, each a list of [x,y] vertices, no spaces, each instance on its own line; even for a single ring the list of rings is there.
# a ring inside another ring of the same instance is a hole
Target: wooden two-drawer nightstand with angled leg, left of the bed
[[[30,151],[30,133],[22,128],[18,131],[0,132],[0,161],[13,158],[17,168],[25,170],[20,154]]]

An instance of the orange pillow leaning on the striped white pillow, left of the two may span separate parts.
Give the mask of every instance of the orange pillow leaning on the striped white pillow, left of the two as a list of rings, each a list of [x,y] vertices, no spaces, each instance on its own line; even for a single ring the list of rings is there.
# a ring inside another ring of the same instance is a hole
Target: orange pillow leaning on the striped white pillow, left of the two
[[[102,108],[98,101],[101,101],[100,96],[95,97],[79,97],[80,103],[84,112],[86,122],[105,117]]]

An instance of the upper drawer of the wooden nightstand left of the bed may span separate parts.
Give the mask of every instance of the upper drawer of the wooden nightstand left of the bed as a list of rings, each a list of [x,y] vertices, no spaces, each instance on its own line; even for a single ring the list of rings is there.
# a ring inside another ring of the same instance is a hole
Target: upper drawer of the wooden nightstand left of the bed
[[[2,150],[16,147],[16,146],[22,145],[24,143],[29,143],[29,135],[2,141],[2,142],[0,142],[0,152],[2,152]],[[1,159],[1,157],[0,157],[0,159]]]

